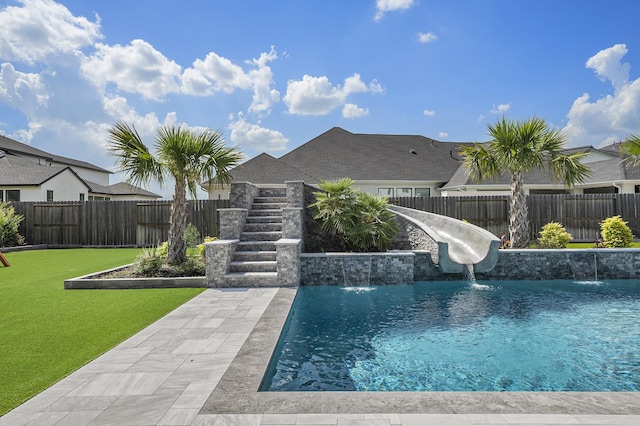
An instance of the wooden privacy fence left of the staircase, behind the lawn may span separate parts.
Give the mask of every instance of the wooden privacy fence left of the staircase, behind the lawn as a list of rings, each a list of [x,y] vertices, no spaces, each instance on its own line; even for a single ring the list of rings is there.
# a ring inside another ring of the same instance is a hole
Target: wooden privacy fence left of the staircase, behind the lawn
[[[169,234],[169,201],[13,202],[24,216],[27,244],[69,246],[155,246]],[[228,200],[189,201],[189,223],[201,236],[219,234],[218,209]]]

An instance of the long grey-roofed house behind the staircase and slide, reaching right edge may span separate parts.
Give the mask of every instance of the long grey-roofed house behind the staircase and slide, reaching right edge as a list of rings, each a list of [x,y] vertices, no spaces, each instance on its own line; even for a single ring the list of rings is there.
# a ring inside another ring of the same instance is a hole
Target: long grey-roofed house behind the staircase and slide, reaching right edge
[[[315,137],[280,158],[260,154],[231,170],[235,182],[258,186],[349,177],[354,187],[388,197],[446,197],[505,195],[509,177],[471,181],[459,151],[471,142],[441,142],[419,135],[355,134],[339,127]],[[634,193],[640,185],[640,169],[622,164],[619,144],[567,151],[586,151],[582,161],[592,169],[584,184],[571,189],[556,183],[548,171],[525,175],[527,193]],[[203,184],[206,188],[207,183]],[[211,186],[209,198],[228,198],[229,189]]]

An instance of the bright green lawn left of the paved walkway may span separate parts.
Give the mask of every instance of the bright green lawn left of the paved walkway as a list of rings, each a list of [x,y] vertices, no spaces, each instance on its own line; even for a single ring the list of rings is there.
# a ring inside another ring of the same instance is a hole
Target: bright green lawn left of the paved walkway
[[[131,263],[139,249],[5,253],[0,264],[0,415],[113,348],[202,289],[64,290]]]

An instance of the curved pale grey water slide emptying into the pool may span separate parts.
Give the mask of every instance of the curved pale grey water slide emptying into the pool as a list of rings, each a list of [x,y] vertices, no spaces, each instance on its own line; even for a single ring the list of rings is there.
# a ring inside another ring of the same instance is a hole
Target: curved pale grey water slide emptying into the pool
[[[400,206],[389,208],[434,241],[442,272],[464,273],[467,265],[473,265],[475,272],[487,272],[496,265],[500,240],[486,229],[435,213]]]

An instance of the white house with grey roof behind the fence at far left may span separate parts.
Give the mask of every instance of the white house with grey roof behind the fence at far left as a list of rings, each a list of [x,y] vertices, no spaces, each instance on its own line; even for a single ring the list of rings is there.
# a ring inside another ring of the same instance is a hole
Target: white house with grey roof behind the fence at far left
[[[160,195],[125,183],[112,173],[0,136],[0,201],[156,200]]]

